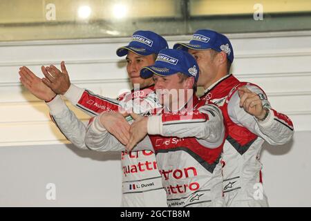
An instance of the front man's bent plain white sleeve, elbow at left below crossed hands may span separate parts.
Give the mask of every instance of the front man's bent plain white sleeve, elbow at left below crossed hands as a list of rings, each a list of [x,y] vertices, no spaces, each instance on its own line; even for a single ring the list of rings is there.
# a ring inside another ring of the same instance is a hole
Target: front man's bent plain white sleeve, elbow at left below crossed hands
[[[121,144],[117,138],[109,133],[102,124],[100,124],[100,116],[93,119],[88,125],[85,135],[85,143],[88,148],[93,151],[124,151],[125,146]],[[151,150],[153,146],[149,136],[144,139],[133,148],[132,151]]]

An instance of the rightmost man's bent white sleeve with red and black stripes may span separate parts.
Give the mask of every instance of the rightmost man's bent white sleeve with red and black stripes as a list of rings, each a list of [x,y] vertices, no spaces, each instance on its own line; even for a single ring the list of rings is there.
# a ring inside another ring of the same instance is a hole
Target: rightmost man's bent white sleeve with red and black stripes
[[[227,108],[230,119],[237,125],[245,126],[249,131],[262,137],[269,144],[280,145],[289,142],[294,134],[290,119],[271,108],[265,93],[260,88],[256,86],[247,86],[247,88],[262,98],[263,106],[270,110],[269,115],[263,122],[249,115],[243,107],[240,107],[240,97],[236,92],[229,100]]]

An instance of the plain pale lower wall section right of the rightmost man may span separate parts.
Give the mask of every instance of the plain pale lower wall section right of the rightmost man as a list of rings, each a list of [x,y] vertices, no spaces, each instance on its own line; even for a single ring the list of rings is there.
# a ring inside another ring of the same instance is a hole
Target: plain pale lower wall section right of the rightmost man
[[[263,145],[263,186],[270,206],[311,206],[310,135],[298,132],[289,144]]]

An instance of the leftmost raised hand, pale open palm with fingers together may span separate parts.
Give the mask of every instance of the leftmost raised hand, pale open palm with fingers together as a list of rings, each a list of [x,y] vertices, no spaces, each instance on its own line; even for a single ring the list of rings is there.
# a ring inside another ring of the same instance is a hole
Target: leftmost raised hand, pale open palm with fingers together
[[[19,76],[21,84],[37,98],[48,102],[55,97],[53,90],[46,86],[29,68],[25,66],[19,68]]]

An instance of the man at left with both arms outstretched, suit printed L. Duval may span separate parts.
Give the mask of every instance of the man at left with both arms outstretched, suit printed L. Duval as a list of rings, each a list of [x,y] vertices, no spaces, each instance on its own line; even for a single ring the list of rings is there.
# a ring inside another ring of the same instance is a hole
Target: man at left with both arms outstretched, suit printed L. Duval
[[[117,49],[119,57],[126,55],[126,70],[131,84],[137,87],[117,99],[95,95],[89,90],[70,84],[64,62],[61,64],[62,73],[55,66],[41,68],[46,77],[43,79],[45,84],[26,67],[21,68],[19,75],[30,92],[46,101],[50,108],[50,117],[65,137],[78,148],[86,149],[86,126],[68,109],[60,95],[64,95],[75,107],[92,117],[102,112],[114,113],[120,108],[133,108],[137,114],[148,112],[160,104],[153,94],[153,79],[142,79],[140,69],[154,64],[156,55],[163,48],[168,48],[163,37],[151,31],[140,30],[133,33],[128,46]],[[120,121],[114,115],[108,120],[115,127],[129,126],[124,118]],[[114,135],[126,137],[118,128]],[[156,157],[152,151],[122,151],[121,162],[122,206],[167,206]]]

